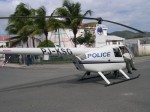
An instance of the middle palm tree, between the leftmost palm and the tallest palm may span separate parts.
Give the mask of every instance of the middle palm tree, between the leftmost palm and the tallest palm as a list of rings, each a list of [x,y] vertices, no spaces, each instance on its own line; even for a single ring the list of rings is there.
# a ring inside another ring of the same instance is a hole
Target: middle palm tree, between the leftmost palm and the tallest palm
[[[53,14],[53,13],[52,13]],[[51,15],[52,15],[51,14]],[[46,16],[46,9],[44,6],[41,6],[35,11],[36,16]],[[64,28],[64,21],[54,19],[54,18],[38,18],[33,21],[33,25],[28,29],[31,29],[31,36],[44,34],[46,37],[46,45],[48,47],[48,32],[57,31],[59,28]]]

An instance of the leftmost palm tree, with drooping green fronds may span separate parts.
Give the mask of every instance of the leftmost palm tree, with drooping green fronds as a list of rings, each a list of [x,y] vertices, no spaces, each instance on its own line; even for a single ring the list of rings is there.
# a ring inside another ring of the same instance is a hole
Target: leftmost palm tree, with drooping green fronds
[[[10,17],[14,16],[29,16],[31,14],[30,8],[28,5],[24,3],[20,3],[17,5],[14,14],[10,15]],[[19,18],[10,18],[8,20],[8,25],[6,27],[6,31],[9,34],[15,34],[19,35],[20,38],[16,41],[16,43],[19,43],[21,41],[26,42],[28,40],[28,35],[29,32],[23,32],[21,31],[24,26],[29,24],[29,19],[19,19]],[[27,42],[27,47],[28,47],[28,42]]]

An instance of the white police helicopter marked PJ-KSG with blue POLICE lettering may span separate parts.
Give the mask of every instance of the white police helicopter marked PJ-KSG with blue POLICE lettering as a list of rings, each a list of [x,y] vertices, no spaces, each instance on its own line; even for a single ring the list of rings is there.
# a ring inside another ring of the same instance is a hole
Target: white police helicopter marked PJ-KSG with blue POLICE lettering
[[[8,19],[10,17],[0,17],[0,19]],[[17,16],[15,18],[42,18],[41,16]],[[44,16],[44,18],[69,18],[62,16]],[[81,17],[70,17],[70,18],[81,18]],[[124,47],[126,51],[130,54],[131,59],[133,58],[130,50],[124,45],[106,45],[105,36],[100,37],[100,33],[102,33],[102,21],[110,22],[113,24],[121,25],[123,27],[127,27],[129,29],[138,31],[140,33],[144,33],[141,30],[135,29],[133,27],[114,22],[109,20],[104,20],[102,18],[90,18],[83,17],[82,19],[92,19],[98,21],[95,29],[96,41],[94,48],[0,48],[0,54],[31,54],[31,55],[49,55],[49,56],[70,56],[72,57],[73,64],[75,65],[77,70],[85,71],[82,79],[85,76],[90,75],[91,72],[96,72],[99,76],[104,79],[107,85],[112,85],[115,83],[119,83],[122,81],[128,81],[131,79],[138,78],[129,77],[128,74],[124,72],[126,68],[126,63],[123,58],[123,52],[120,47]],[[122,74],[125,79],[119,82],[110,82],[106,77],[105,72],[108,71],[118,71]]]

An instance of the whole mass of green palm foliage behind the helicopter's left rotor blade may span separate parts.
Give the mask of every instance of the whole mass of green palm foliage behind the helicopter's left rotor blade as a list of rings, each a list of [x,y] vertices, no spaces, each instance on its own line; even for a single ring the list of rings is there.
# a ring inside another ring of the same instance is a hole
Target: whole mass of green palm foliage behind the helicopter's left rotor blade
[[[86,15],[91,15],[92,11],[87,10],[84,14],[81,13],[81,4],[79,2],[72,2],[70,0],[64,0],[62,7],[57,8],[51,15],[58,16],[70,16],[70,17],[85,17]],[[38,9],[33,9],[29,5],[20,3],[17,5],[15,12],[10,15],[14,16],[46,16],[46,9],[44,6],[41,6]],[[53,18],[10,18],[6,31],[9,34],[19,35],[21,38],[16,41],[18,42],[27,42],[29,37],[34,37],[35,35],[45,34],[46,40],[48,40],[48,31],[56,31],[59,28],[69,27],[73,30],[74,38],[76,39],[78,26],[82,22],[82,18],[66,18],[65,21],[57,20]],[[47,41],[46,41],[47,42]],[[48,46],[48,43],[47,47]],[[27,43],[28,46],[28,43]],[[75,40],[76,46],[76,40]]]

